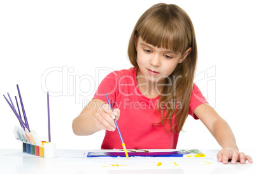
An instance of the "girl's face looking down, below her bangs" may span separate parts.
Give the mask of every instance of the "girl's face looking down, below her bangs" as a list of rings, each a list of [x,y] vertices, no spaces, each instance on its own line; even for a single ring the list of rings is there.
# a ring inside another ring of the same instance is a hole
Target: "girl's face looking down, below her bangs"
[[[136,43],[136,41],[138,41]],[[137,62],[139,65],[138,77],[145,77],[146,80],[152,83],[164,83],[166,77],[173,73],[178,64],[190,53],[191,48],[181,55],[172,50],[165,48],[157,48],[146,43],[139,36],[135,41],[137,50]]]

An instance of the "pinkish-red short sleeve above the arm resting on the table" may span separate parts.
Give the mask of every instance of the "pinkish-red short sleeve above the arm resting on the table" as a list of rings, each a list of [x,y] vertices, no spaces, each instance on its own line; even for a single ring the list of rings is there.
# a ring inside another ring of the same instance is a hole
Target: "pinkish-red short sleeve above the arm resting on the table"
[[[190,98],[190,105],[189,105],[189,110],[188,114],[194,119],[199,119],[196,114],[194,114],[194,110],[201,104],[208,103],[207,100],[204,98],[203,94],[199,90],[198,86],[194,83],[193,85],[193,90],[191,93],[191,98]]]

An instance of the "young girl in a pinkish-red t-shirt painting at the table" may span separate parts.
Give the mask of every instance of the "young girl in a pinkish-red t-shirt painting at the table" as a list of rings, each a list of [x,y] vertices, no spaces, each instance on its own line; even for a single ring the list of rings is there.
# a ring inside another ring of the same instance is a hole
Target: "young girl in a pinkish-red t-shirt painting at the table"
[[[76,135],[106,130],[102,149],[122,149],[113,121],[117,119],[127,149],[176,149],[189,114],[200,119],[222,146],[219,162],[252,163],[250,156],[238,151],[229,124],[193,82],[197,44],[185,11],[163,3],[146,10],[132,31],[128,56],[134,67],[103,79],[92,101],[73,121]]]

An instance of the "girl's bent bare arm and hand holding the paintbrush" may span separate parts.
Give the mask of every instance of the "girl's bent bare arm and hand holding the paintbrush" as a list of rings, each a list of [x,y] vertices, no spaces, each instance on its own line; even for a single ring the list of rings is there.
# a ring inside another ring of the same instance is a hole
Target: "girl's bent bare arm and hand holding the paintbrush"
[[[102,100],[92,99],[72,123],[75,135],[91,135],[100,130],[115,131],[115,122],[118,119],[120,110],[110,109],[110,105],[104,104]]]

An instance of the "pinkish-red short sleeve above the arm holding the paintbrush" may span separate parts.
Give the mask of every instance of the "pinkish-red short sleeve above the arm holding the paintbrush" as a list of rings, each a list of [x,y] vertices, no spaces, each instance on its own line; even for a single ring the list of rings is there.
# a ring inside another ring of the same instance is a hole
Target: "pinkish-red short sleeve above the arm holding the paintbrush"
[[[108,98],[110,98],[110,103],[113,107],[113,104],[115,103],[115,94],[118,88],[117,84],[118,74],[115,71],[111,72],[106,77],[104,77],[103,81],[101,81],[93,98],[103,100],[103,102],[108,104],[108,100],[106,99],[107,94]]]

